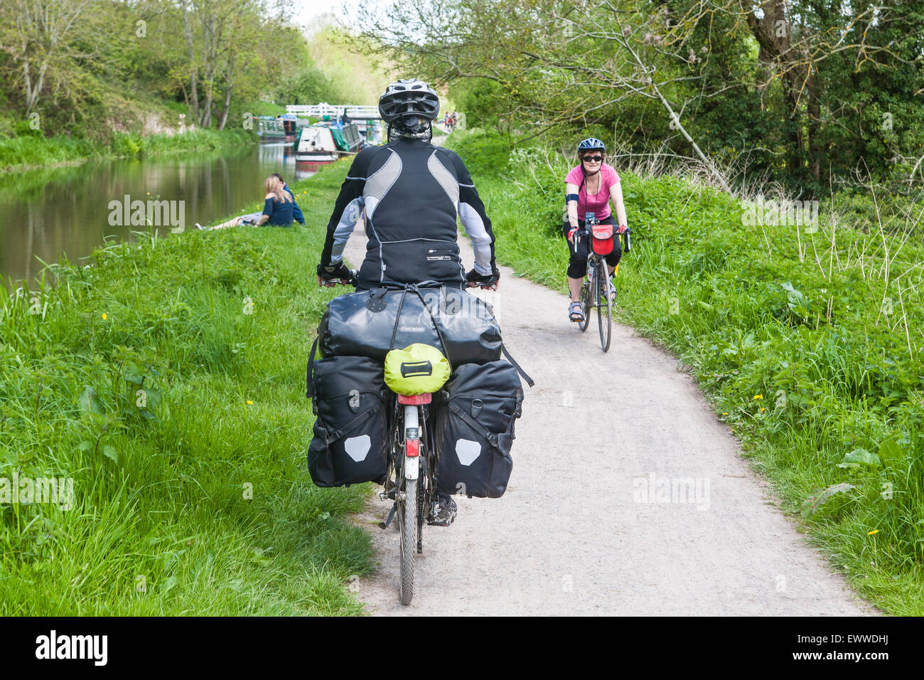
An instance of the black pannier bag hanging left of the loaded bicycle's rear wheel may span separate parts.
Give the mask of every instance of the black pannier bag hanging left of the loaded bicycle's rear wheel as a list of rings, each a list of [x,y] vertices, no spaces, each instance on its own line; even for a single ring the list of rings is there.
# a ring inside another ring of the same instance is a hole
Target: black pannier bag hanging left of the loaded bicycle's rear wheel
[[[388,467],[384,371],[365,356],[332,356],[308,365],[308,396],[317,416],[308,470],[318,487],[382,484]]]

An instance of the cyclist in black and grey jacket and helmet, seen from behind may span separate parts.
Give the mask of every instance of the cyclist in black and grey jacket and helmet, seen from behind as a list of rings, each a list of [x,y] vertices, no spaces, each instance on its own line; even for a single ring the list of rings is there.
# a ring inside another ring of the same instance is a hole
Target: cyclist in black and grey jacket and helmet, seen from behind
[[[496,286],[491,220],[456,152],[434,146],[436,93],[420,80],[397,80],[379,100],[388,143],[359,152],[327,225],[318,283],[350,278],[346,241],[365,215],[366,259],[359,290],[389,283]],[[456,215],[471,239],[475,266],[466,274],[456,242]]]

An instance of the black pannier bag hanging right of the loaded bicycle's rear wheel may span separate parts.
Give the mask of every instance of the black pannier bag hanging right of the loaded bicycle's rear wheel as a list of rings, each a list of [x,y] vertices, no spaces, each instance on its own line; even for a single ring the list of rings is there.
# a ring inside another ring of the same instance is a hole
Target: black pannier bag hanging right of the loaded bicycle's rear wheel
[[[456,367],[440,392],[434,423],[441,493],[500,498],[513,470],[510,447],[521,414],[517,369],[504,361]]]

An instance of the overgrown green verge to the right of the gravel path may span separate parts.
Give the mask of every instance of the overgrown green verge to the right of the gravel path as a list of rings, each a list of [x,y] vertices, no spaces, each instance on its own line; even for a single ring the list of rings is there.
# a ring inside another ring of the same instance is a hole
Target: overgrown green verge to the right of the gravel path
[[[487,204],[498,259],[564,292],[557,229],[572,164],[539,149],[511,154],[479,132],[449,145]],[[857,201],[841,211],[835,198],[815,226],[748,226],[722,192],[617,169],[633,229],[617,279],[621,319],[691,367],[744,454],[854,587],[887,612],[924,613],[917,220],[863,219]]]

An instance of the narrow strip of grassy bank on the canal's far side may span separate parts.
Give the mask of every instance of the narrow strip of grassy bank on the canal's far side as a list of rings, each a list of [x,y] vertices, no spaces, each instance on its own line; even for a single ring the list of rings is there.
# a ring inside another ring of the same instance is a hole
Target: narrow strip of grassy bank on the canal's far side
[[[115,132],[107,142],[89,138],[52,137],[41,134],[0,138],[0,172],[17,172],[36,167],[78,165],[103,158],[143,158],[151,155],[205,151],[241,143],[256,143],[249,130],[192,130],[184,134]]]

